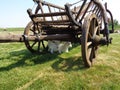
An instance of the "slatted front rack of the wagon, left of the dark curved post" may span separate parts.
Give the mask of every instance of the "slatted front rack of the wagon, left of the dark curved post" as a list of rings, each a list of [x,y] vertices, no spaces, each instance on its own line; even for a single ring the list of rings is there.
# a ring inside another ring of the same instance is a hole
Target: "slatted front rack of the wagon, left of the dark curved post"
[[[35,14],[31,9],[27,12],[35,23],[41,23],[42,25],[69,25],[69,19],[64,7],[48,3],[46,1],[34,0],[38,4]],[[47,8],[47,11],[44,11]]]

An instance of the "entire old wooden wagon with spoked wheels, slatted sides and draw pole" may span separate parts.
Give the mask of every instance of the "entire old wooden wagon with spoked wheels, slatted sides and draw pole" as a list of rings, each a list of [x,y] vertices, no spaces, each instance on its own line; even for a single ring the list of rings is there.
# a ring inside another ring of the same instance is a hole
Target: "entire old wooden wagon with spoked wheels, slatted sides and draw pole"
[[[100,0],[79,0],[64,7],[43,0],[33,0],[37,6],[27,12],[31,21],[22,36],[1,37],[0,41],[23,41],[32,53],[47,51],[48,40],[69,41],[81,45],[82,59],[91,67],[100,45],[109,45],[114,32],[113,16]],[[109,30],[109,22],[112,27]]]

